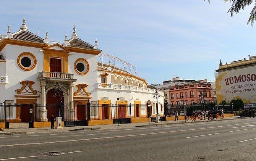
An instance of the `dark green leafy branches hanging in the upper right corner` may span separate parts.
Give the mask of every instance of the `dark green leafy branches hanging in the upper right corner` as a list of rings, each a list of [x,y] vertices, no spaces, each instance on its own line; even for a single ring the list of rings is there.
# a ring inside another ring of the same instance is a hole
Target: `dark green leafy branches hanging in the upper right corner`
[[[204,0],[205,1],[205,0]],[[246,6],[249,6],[254,0],[224,0],[224,2],[232,2],[231,8],[228,10],[228,12],[231,13],[231,16],[233,16],[233,13],[239,13],[241,9],[245,9]],[[210,0],[208,0],[210,3]],[[256,3],[253,6],[253,10],[250,13],[250,18],[248,19],[247,25],[251,23],[251,26],[253,27],[254,20],[256,20]]]

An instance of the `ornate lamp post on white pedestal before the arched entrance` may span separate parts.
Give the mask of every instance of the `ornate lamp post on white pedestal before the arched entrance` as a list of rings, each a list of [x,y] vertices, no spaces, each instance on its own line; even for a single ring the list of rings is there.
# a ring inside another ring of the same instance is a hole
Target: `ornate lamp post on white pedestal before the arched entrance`
[[[58,95],[56,93],[58,93]],[[56,118],[56,128],[62,127],[61,126],[62,116],[60,114],[60,103],[63,105],[63,102],[62,102],[62,100],[60,101],[60,96],[61,96],[61,98],[63,98],[64,97],[64,93],[63,93],[62,87],[60,87],[60,84],[56,83],[55,88],[54,88],[54,93],[53,93],[52,96],[53,97],[58,96],[58,116]]]

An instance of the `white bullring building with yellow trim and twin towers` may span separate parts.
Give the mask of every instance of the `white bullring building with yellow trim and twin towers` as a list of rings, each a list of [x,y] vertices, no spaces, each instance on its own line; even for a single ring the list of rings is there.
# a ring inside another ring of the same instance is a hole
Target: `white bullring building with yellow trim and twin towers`
[[[64,36],[65,34],[63,34]],[[0,36],[0,102],[14,104],[51,104],[56,85],[61,87],[65,97],[63,103],[76,100],[86,104],[146,104],[151,100],[152,116],[156,114],[155,90],[147,88],[146,80],[126,71],[129,63],[117,57],[102,53],[97,46],[90,45],[78,38],[73,28],[71,38],[63,43],[49,40],[46,32],[43,39],[28,31],[26,19],[23,19],[19,31]],[[103,59],[109,63],[104,63]],[[101,60],[101,61],[98,61]],[[111,63],[111,61],[112,63]],[[121,61],[125,68],[118,68],[115,61]],[[163,115],[164,95],[160,92],[159,111]],[[57,99],[58,101],[58,99]],[[161,106],[160,106],[161,105]],[[75,106],[73,106],[75,110]],[[110,114],[110,109],[107,109]],[[93,110],[92,110],[93,111]],[[144,116],[147,109],[132,109],[131,116]],[[37,113],[47,114],[45,111]],[[139,114],[138,114],[139,113]],[[28,109],[14,106],[10,110],[10,123],[27,122]],[[101,118],[102,110],[94,109],[94,118]],[[46,117],[46,116],[45,116]],[[47,119],[41,121],[47,121]],[[92,117],[92,116],[91,116]],[[104,117],[104,116],[103,116]],[[107,117],[108,118],[108,117]],[[110,118],[109,118],[110,119]]]

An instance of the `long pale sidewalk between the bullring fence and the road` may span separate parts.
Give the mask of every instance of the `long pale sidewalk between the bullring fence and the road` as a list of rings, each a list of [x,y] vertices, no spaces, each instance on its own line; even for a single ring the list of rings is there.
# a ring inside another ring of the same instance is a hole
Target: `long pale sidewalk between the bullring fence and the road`
[[[13,123],[10,124],[9,129],[5,129],[4,131],[0,132],[0,135],[14,135],[14,134],[34,134],[34,133],[47,133],[47,132],[64,132],[64,131],[71,131],[71,130],[99,130],[99,129],[121,129],[121,128],[132,128],[132,127],[139,127],[139,126],[164,126],[164,125],[173,125],[173,124],[188,124],[188,123],[195,123],[195,122],[209,122],[209,121],[225,121],[225,120],[233,120],[233,119],[243,119],[237,116],[228,117],[225,119],[213,119],[213,120],[196,120],[185,122],[185,120],[178,120],[178,121],[162,121],[159,123],[155,122],[139,122],[139,123],[132,123],[132,124],[112,124],[112,125],[96,125],[96,126],[71,126],[71,127],[62,127],[58,129],[50,129],[50,127],[41,127],[41,128],[28,128],[28,123]]]

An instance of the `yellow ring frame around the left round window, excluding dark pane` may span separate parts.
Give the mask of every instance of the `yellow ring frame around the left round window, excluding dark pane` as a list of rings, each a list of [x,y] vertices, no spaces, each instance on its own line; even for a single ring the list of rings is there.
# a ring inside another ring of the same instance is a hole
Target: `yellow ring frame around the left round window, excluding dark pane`
[[[24,66],[21,64],[21,59],[24,58],[24,57],[30,58],[31,64],[32,64],[32,65],[30,65],[30,67],[24,67]],[[24,71],[31,71],[31,70],[33,70],[34,68],[36,68],[37,61],[36,61],[36,57],[35,57],[32,53],[24,52],[24,53],[21,53],[21,54],[18,56],[18,58],[17,58],[17,63],[18,63],[19,68],[21,68],[22,70],[24,70]]]

